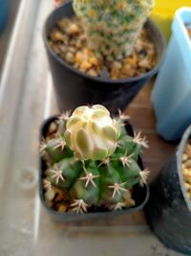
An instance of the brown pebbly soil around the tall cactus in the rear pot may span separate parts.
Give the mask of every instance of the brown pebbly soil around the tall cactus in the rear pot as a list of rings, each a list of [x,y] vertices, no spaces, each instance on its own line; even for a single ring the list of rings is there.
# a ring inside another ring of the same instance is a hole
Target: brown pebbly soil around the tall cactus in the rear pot
[[[63,18],[54,25],[49,35],[49,45],[59,58],[92,77],[128,79],[141,76],[156,65],[155,45],[149,40],[145,27],[133,53],[128,58],[115,61],[100,58],[88,47],[76,16]]]

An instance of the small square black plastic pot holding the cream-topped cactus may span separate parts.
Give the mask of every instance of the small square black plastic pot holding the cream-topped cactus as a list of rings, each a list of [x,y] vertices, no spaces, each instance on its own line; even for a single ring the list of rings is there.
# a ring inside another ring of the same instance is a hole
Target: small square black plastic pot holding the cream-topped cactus
[[[45,123],[41,128],[40,141],[42,141],[42,138],[46,137],[50,124],[56,120],[57,120],[57,117],[53,116],[49,118],[47,121],[45,121]],[[128,134],[133,136],[134,131],[131,125],[129,123],[126,123],[125,127]],[[136,206],[132,208],[119,210],[119,211],[94,212],[94,213],[87,213],[87,214],[75,214],[71,212],[59,213],[46,205],[45,198],[44,198],[43,178],[45,177],[45,171],[47,170],[47,165],[42,157],[40,157],[39,164],[40,164],[39,197],[43,206],[47,209],[47,211],[51,214],[51,216],[55,221],[63,221],[63,222],[72,221],[73,222],[73,221],[84,221],[84,220],[90,220],[90,219],[104,219],[104,218],[108,219],[108,218],[116,217],[118,215],[129,214],[129,213],[137,212],[138,210],[143,209],[143,207],[145,206],[149,198],[149,187],[148,186],[140,187],[139,185],[136,185],[134,186],[134,199],[136,201]],[[142,161],[140,157],[138,158],[138,165],[143,170]]]

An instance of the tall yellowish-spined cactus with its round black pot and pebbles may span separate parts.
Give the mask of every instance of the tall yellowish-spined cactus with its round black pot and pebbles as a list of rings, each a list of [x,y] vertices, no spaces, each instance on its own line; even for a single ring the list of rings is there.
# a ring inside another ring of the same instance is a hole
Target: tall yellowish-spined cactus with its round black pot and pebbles
[[[44,41],[61,110],[97,103],[124,110],[159,69],[164,42],[146,22],[152,8],[151,0],[74,0],[51,13]]]

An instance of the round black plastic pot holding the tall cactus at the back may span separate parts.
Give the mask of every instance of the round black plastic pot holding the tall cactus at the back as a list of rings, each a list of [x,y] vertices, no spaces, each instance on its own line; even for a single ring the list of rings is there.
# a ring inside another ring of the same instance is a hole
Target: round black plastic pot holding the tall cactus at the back
[[[149,38],[156,46],[156,66],[142,76],[125,79],[111,80],[94,78],[82,73],[64,60],[56,56],[48,43],[48,37],[53,30],[55,23],[64,18],[74,15],[71,1],[63,4],[54,10],[47,18],[44,26],[43,37],[49,58],[53,85],[57,103],[61,111],[74,109],[78,105],[105,105],[111,113],[117,113],[118,108],[124,110],[134,99],[139,89],[159,70],[163,57],[165,43],[155,24],[148,20],[145,27],[148,30]]]

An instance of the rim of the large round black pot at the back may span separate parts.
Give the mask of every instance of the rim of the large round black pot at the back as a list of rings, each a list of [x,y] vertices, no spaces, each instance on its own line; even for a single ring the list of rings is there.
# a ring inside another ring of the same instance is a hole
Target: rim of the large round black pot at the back
[[[60,9],[64,9],[66,5],[72,5],[72,0],[68,0],[65,3],[61,4],[61,6],[59,6],[58,8],[54,9],[53,12],[51,12],[48,15],[48,17],[46,18],[46,20],[44,22],[44,25],[43,25],[43,40],[44,40],[45,47],[49,51],[51,56],[53,58],[55,58],[61,65],[63,65],[65,68],[68,68],[75,75],[81,76],[84,79],[89,79],[89,80],[93,80],[93,81],[101,81],[101,82],[111,83],[111,84],[139,81],[139,80],[142,80],[142,79],[145,79],[145,78],[148,78],[148,77],[152,77],[155,74],[157,74],[157,72],[159,71],[159,66],[161,65],[162,60],[164,58],[164,52],[165,52],[165,45],[166,45],[166,43],[165,43],[165,40],[164,40],[164,36],[160,32],[159,28],[155,25],[155,23],[151,19],[147,19],[145,24],[150,25],[151,27],[153,27],[158,32],[158,34],[160,36],[161,46],[162,46],[162,53],[161,53],[161,55],[160,55],[160,57],[158,59],[157,64],[150,71],[144,73],[143,75],[140,75],[138,77],[133,77],[133,78],[119,79],[119,80],[105,79],[105,78],[101,78],[101,77],[92,77],[92,76],[90,76],[90,75],[88,75],[88,74],[86,74],[84,72],[79,71],[78,69],[75,69],[72,65],[68,64],[66,61],[64,61],[63,59],[59,58],[53,52],[53,49],[49,46],[48,38],[47,38],[47,33],[46,33],[46,27],[47,27],[48,21],[53,17],[54,13],[59,12]]]

